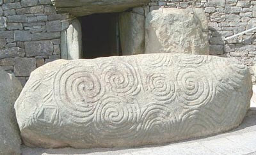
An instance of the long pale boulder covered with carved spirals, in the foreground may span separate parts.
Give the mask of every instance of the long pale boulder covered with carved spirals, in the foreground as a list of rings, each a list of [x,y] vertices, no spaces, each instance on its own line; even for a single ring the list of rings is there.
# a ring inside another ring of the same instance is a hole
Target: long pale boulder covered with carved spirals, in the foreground
[[[235,128],[251,96],[235,59],[141,54],[45,64],[15,110],[29,146],[133,147]]]

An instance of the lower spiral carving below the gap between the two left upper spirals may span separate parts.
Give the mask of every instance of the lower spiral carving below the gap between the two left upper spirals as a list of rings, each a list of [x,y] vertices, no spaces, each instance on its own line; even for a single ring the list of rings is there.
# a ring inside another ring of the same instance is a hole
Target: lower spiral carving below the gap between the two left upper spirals
[[[140,107],[136,101],[109,96],[98,103],[95,114],[95,135],[100,140],[134,139],[138,135]],[[102,138],[102,139],[101,139]]]

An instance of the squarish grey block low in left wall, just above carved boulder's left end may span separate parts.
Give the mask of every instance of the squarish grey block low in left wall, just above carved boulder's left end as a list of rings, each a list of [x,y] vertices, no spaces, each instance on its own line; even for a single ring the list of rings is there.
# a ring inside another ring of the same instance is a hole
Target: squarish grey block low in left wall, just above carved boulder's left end
[[[15,57],[14,72],[16,77],[29,77],[31,71],[35,69],[35,58]]]

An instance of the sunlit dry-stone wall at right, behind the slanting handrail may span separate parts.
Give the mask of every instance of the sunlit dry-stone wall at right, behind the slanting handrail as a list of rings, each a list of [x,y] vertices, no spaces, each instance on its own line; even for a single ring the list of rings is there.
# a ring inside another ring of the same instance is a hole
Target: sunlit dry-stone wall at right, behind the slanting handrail
[[[256,1],[250,0],[166,0],[151,1],[150,10],[203,8],[209,20],[210,54],[234,57],[250,67],[256,63],[256,31],[224,41],[227,36],[256,27]],[[253,83],[255,77],[252,76]]]

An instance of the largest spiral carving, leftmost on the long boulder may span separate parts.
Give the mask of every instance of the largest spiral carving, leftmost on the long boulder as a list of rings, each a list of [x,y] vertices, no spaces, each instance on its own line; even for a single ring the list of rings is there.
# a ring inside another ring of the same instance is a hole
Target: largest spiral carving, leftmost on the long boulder
[[[66,66],[54,78],[54,97],[74,116],[72,121],[86,124],[93,118],[95,103],[104,95],[104,87],[92,66]]]

